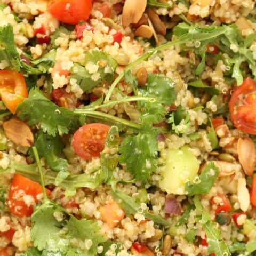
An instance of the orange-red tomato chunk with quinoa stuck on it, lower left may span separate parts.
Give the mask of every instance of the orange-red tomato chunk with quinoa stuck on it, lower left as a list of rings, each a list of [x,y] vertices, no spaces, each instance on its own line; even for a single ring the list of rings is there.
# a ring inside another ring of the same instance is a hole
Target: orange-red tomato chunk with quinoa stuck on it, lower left
[[[47,195],[50,190],[46,189]],[[42,186],[20,174],[14,174],[7,205],[10,212],[18,217],[29,217],[33,213],[33,205],[39,202],[38,195],[43,193]]]

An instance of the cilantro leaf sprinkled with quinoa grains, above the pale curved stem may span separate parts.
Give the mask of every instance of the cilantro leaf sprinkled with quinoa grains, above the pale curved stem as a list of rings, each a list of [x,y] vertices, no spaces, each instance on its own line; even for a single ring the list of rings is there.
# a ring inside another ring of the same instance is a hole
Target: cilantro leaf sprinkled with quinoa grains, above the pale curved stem
[[[99,63],[101,63],[99,65]],[[75,63],[71,69],[74,75],[69,79],[76,79],[84,92],[92,92],[92,89],[103,81],[111,82],[115,77],[117,62],[108,53],[98,50],[85,52],[85,58],[81,65]],[[93,74],[90,73],[91,66],[98,67]],[[101,67],[103,66],[103,67]]]

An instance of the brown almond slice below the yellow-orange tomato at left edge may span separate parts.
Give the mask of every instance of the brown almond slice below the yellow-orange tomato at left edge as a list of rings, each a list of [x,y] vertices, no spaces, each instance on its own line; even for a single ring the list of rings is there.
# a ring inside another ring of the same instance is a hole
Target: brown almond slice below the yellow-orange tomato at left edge
[[[3,124],[4,134],[12,142],[23,147],[31,147],[34,144],[34,135],[30,127],[19,119],[10,119]]]

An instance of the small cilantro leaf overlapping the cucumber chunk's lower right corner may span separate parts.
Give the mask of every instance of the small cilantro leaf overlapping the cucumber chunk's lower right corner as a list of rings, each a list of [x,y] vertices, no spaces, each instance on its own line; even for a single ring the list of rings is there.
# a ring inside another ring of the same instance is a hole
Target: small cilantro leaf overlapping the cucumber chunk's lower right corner
[[[219,168],[213,162],[207,164],[199,175],[198,182],[191,184],[186,183],[188,196],[196,194],[208,194],[219,174]]]

